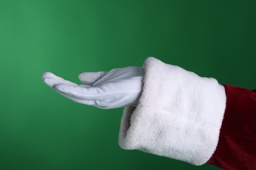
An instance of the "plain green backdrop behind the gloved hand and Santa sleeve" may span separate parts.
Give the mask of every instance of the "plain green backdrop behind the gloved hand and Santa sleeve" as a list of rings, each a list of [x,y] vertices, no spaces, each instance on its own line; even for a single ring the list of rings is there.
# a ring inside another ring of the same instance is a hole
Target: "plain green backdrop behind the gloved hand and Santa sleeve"
[[[117,143],[123,109],[74,103],[41,80],[154,56],[255,88],[255,1],[0,1],[0,169],[218,169]]]

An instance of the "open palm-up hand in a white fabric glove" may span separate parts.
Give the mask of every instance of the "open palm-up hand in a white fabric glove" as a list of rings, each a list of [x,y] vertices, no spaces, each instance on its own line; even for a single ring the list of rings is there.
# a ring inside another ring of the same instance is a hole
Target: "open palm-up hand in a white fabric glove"
[[[43,73],[43,81],[56,92],[77,103],[100,109],[114,109],[138,103],[143,76],[142,67],[124,67],[108,72],[81,73],[78,77],[82,85],[49,72]]]

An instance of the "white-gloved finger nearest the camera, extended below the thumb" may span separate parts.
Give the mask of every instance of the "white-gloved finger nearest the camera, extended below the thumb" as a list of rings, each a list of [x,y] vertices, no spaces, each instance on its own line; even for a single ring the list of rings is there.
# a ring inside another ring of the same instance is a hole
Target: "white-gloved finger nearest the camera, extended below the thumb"
[[[57,84],[54,87],[58,92],[71,95],[73,97],[85,100],[100,100],[102,92],[97,87],[83,88],[81,86],[72,86],[68,84]]]

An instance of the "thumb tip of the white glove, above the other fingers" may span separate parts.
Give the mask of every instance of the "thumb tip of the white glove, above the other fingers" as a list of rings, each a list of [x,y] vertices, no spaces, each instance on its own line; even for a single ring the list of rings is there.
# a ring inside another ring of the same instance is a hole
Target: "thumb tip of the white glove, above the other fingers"
[[[81,73],[78,78],[83,84],[92,85],[96,80],[106,75],[105,71]]]

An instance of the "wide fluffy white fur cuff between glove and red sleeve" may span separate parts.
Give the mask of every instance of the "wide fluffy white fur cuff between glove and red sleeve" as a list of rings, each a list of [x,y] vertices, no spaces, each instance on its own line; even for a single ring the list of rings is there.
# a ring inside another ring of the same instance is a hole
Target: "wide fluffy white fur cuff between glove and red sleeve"
[[[217,147],[226,107],[224,87],[156,58],[144,62],[137,107],[126,107],[119,145],[202,165]]]

